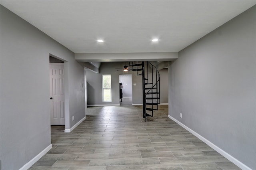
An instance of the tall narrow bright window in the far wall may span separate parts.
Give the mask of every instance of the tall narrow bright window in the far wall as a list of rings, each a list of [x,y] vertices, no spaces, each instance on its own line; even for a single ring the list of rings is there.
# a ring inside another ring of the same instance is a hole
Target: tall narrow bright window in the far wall
[[[111,75],[102,75],[102,101],[111,102]]]

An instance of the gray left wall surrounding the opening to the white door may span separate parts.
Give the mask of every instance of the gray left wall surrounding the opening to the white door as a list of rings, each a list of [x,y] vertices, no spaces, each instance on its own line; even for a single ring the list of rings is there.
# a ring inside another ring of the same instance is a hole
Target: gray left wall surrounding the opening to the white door
[[[68,128],[85,115],[84,68],[74,60],[72,51],[3,6],[0,11],[1,168],[14,170],[51,143],[49,54],[66,61]]]

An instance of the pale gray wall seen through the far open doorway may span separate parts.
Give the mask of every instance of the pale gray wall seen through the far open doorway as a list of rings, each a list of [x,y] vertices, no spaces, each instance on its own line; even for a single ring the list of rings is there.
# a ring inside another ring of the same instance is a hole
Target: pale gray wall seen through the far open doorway
[[[119,80],[123,83],[123,97],[132,97],[132,75],[119,75]]]

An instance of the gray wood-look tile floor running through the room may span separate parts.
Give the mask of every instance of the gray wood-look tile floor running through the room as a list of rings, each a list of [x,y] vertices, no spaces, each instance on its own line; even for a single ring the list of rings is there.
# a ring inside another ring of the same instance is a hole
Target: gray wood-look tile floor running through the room
[[[30,170],[240,170],[168,118],[160,105],[145,123],[142,107],[88,107],[78,127],[52,126],[52,149]]]

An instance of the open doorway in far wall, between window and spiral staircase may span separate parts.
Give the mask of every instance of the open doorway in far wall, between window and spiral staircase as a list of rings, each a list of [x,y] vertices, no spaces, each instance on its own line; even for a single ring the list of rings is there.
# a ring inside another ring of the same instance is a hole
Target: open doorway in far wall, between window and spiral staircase
[[[119,75],[120,105],[132,105],[132,75]]]

